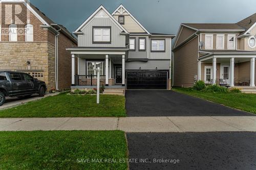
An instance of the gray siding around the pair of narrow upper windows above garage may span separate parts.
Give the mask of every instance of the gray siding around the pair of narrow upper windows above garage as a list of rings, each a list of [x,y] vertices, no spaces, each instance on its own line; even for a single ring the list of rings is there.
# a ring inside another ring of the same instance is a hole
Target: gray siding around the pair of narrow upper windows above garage
[[[131,37],[131,38],[134,38],[134,37]],[[129,52],[129,55],[128,55],[128,58],[147,58],[147,38],[148,37],[135,37],[136,40],[135,40],[135,52],[132,52],[130,51]],[[145,52],[139,52],[139,38],[146,38],[146,41],[145,41],[145,48],[146,48],[146,51]]]

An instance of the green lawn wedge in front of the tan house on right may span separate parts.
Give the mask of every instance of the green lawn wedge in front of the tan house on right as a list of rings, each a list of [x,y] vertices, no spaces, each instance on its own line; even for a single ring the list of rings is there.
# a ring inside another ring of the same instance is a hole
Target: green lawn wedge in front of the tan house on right
[[[191,91],[187,88],[178,87],[175,87],[173,90],[256,114],[256,94],[210,93],[197,90]]]

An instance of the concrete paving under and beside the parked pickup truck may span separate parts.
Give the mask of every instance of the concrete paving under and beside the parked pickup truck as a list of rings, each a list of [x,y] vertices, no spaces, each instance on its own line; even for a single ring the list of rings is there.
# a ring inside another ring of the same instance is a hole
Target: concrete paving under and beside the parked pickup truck
[[[24,105],[28,102],[37,101],[42,98],[47,98],[49,96],[58,95],[60,92],[56,93],[48,93],[44,97],[39,97],[38,94],[32,95],[30,98],[22,99],[22,98],[6,98],[6,103],[3,106],[0,106],[0,110],[9,109],[18,105]]]

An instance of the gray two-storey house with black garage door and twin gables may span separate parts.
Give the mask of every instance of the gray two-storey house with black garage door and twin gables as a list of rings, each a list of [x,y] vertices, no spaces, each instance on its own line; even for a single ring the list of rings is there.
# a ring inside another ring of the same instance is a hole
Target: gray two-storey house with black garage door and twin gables
[[[168,88],[175,36],[148,32],[122,5],[112,14],[100,6],[74,34],[78,47],[67,49],[72,54],[73,89],[95,86],[95,67],[106,88]]]

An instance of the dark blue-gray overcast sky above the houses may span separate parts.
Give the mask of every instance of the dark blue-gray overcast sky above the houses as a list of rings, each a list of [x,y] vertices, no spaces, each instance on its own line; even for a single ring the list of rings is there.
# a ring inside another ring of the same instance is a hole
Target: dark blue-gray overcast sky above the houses
[[[256,13],[255,0],[30,0],[56,23],[75,31],[100,5],[122,4],[153,33],[176,34],[180,23],[236,23]]]

